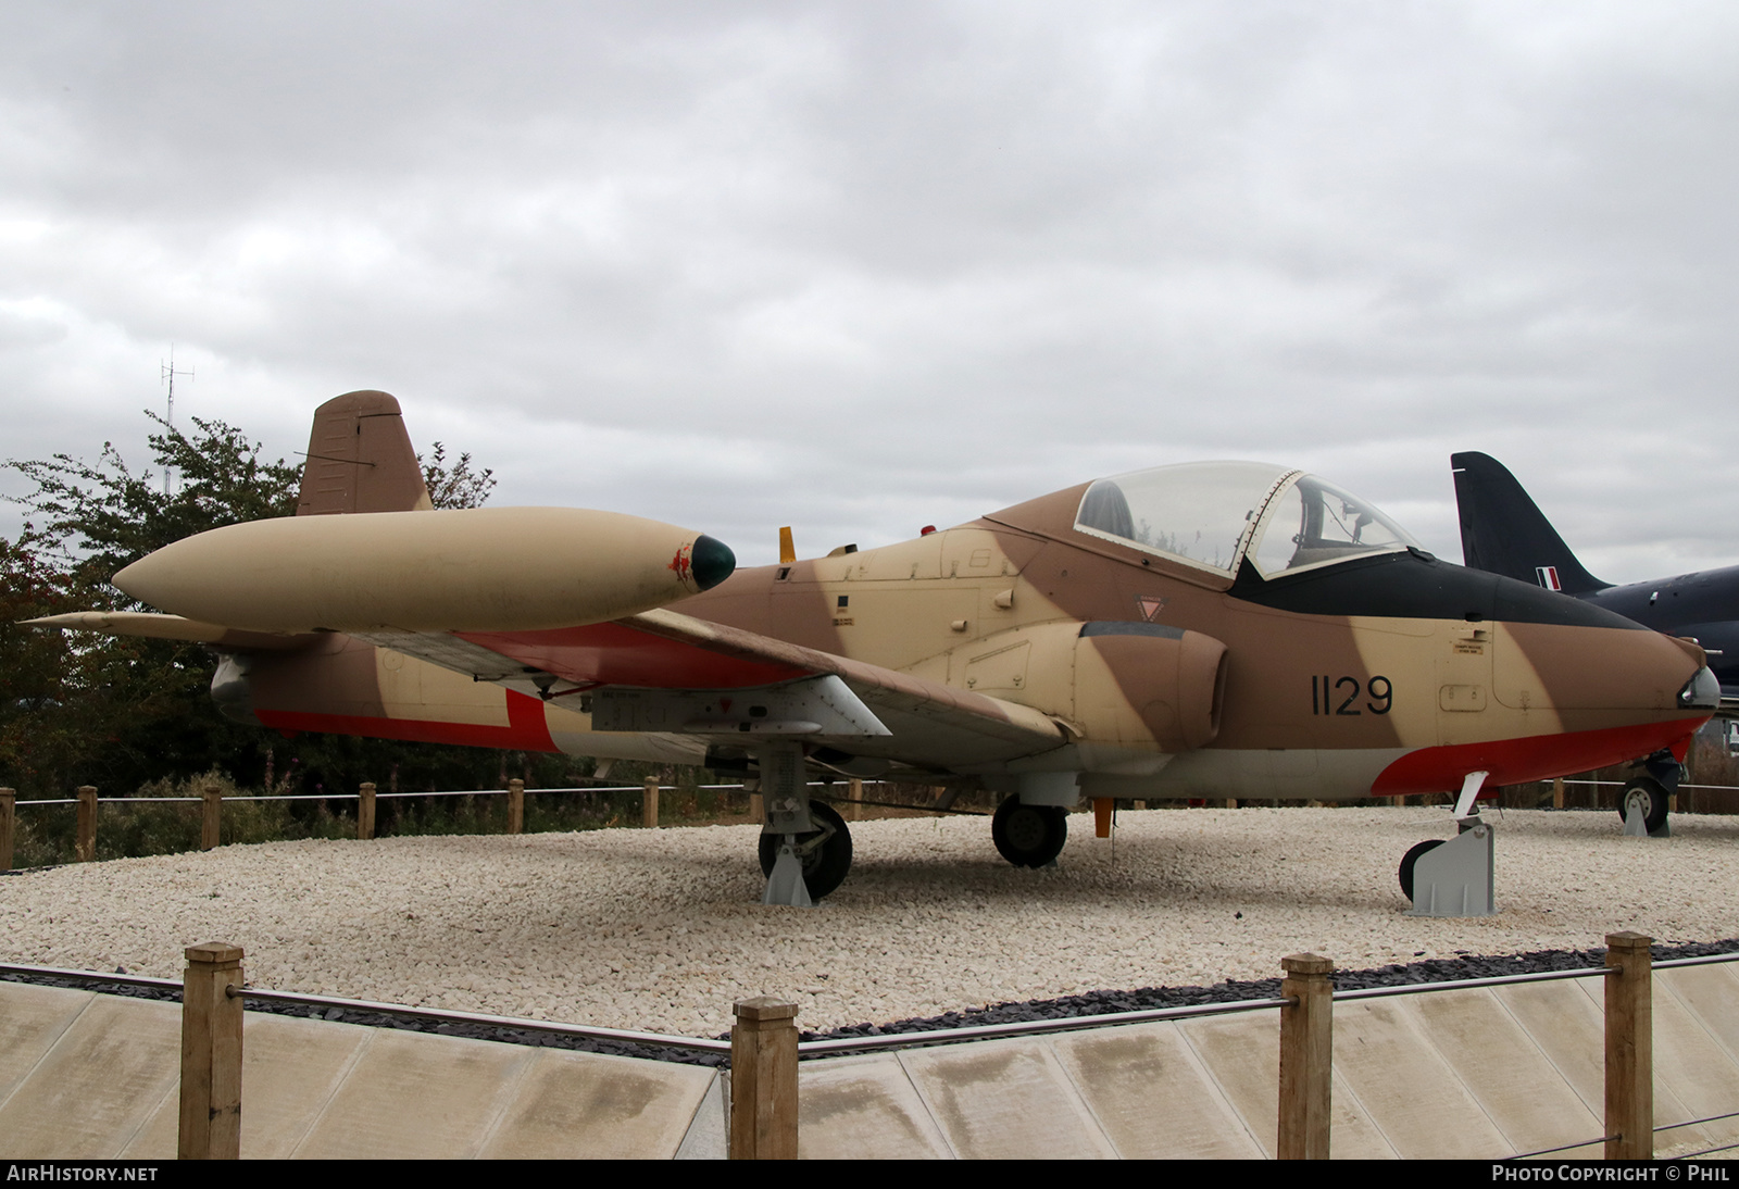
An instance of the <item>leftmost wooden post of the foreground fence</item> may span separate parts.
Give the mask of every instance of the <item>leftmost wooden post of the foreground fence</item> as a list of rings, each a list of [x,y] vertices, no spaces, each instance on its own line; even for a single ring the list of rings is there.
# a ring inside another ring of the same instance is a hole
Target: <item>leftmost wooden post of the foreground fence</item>
[[[181,989],[181,1159],[242,1156],[242,947],[188,946]]]

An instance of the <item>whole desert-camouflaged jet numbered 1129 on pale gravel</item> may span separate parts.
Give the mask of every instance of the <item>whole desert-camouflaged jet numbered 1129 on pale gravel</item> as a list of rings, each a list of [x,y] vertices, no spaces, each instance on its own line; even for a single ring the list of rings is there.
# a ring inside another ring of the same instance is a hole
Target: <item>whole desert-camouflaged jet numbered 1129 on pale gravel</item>
[[[37,622],[205,641],[217,706],[261,727],[741,772],[769,902],[850,866],[810,774],[986,789],[996,848],[1043,866],[1082,798],[1459,789],[1466,817],[1487,782],[1682,754],[1716,702],[1696,645],[1433,558],[1282,466],[1162,466],[734,568],[610,513],[430,511],[384,393],[322,405],[308,454],[297,516],[115,575],[167,614]]]

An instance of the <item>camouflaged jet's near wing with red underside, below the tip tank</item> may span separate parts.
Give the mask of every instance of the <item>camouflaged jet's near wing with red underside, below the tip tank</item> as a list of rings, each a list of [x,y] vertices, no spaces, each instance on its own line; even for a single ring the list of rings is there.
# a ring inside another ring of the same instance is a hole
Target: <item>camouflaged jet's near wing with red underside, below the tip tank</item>
[[[671,610],[534,631],[353,634],[551,702],[579,701],[593,730],[737,747],[790,739],[936,768],[1066,742],[1031,707]]]

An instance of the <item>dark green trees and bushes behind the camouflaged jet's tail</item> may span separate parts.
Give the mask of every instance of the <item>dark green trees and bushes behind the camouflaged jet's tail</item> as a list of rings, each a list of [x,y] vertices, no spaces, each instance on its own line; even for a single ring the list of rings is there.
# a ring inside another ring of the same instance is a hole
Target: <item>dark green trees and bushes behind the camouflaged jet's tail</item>
[[[16,626],[70,610],[144,610],[110,584],[117,570],[197,532],[294,513],[297,466],[270,461],[261,443],[223,421],[195,417],[184,435],[146,415],[160,426],[146,438],[155,473],[132,471],[113,443],[96,464],[70,454],[5,464],[35,483],[19,502],[42,528],[0,539],[0,784],[134,789],[212,767],[243,782],[263,774],[273,737],[212,709],[214,657],[203,645]],[[494,487],[470,454],[449,466],[438,442],[423,466],[436,508],[480,506]],[[176,475],[167,492],[165,469]],[[299,751],[303,770],[318,782],[329,768],[334,787],[356,770],[369,779],[395,763],[419,775],[456,767],[492,774],[501,763],[492,753],[463,749],[461,760],[450,754],[461,749],[442,756],[383,741],[306,741]]]

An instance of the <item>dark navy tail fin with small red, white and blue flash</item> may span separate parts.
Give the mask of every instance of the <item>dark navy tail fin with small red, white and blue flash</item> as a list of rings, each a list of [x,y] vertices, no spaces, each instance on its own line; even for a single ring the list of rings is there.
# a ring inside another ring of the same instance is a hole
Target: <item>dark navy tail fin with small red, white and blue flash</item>
[[[1475,570],[1502,574],[1565,594],[1605,589],[1582,568],[1563,537],[1502,462],[1469,450],[1449,455],[1461,511],[1461,558]]]

